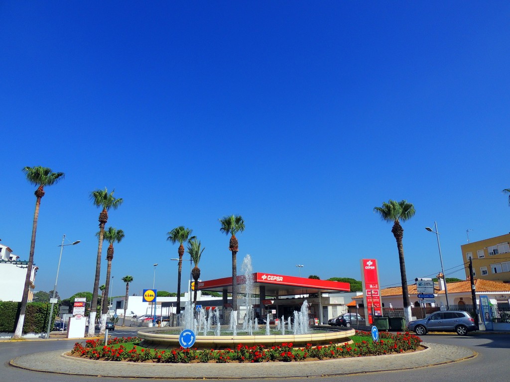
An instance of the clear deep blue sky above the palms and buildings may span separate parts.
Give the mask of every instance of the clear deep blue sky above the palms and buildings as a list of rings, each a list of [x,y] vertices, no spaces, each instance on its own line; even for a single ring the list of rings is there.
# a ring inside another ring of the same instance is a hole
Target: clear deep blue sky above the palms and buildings
[[[0,238],[28,259],[35,206],[24,166],[65,173],[42,199],[36,290],[92,290],[89,193],[124,199],[107,226],[113,293],[176,290],[192,228],[202,279],[231,274],[218,218],[241,214],[238,265],[360,279],[376,258],[400,282],[391,224],[407,199],[407,278],[435,276],[460,245],[510,231],[507,2],[0,3]],[[106,248],[103,258],[106,257]],[[187,269],[185,263],[184,269]],[[446,272],[447,274],[450,271]],[[106,261],[101,269],[105,282]],[[464,272],[452,277],[464,278]],[[183,288],[185,283],[183,282]]]

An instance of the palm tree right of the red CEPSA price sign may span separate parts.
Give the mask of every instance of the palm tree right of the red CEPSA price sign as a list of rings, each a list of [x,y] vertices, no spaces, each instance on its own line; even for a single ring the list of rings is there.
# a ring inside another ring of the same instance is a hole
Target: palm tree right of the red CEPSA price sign
[[[400,262],[400,280],[402,282],[402,298],[404,304],[404,314],[407,322],[411,320],[411,304],[409,303],[409,291],[407,290],[407,278],[405,276],[405,261],[404,261],[404,248],[402,245],[402,238],[404,236],[404,229],[400,225],[400,221],[405,222],[410,220],[415,214],[415,208],[411,203],[406,200],[396,202],[389,200],[388,203],[383,202],[382,207],[374,207],[374,212],[377,212],[381,219],[388,223],[393,223],[391,232],[397,240],[398,261]]]

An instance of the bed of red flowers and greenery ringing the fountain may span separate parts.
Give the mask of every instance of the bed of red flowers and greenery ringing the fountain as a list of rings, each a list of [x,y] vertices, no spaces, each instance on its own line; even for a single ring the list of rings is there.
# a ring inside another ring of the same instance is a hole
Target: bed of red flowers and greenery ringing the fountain
[[[370,333],[358,332],[357,336],[366,337],[358,343],[327,346],[293,347],[292,343],[264,347],[239,344],[235,349],[197,350],[173,349],[158,350],[137,346],[137,337],[114,338],[104,344],[103,340],[88,340],[85,347],[75,343],[71,353],[77,357],[105,361],[160,362],[160,363],[227,363],[227,362],[292,362],[304,360],[323,360],[347,357],[380,356],[382,354],[414,351],[420,346],[421,339],[410,333],[381,332],[378,342],[372,342]]]

